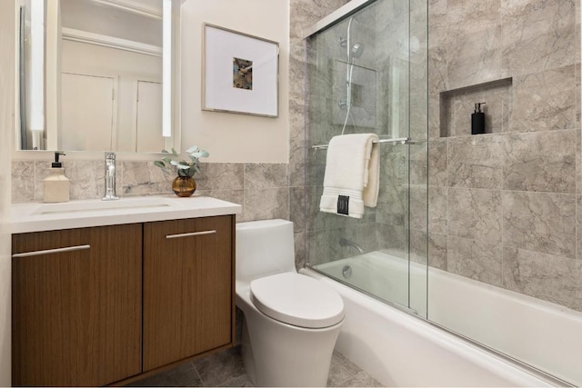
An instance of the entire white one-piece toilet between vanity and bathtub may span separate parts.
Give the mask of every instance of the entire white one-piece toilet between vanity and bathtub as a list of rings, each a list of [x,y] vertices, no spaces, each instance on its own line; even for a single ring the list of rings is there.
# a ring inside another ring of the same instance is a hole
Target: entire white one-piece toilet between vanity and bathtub
[[[236,305],[256,386],[326,386],[344,302],[331,286],[297,274],[293,223],[236,224]]]

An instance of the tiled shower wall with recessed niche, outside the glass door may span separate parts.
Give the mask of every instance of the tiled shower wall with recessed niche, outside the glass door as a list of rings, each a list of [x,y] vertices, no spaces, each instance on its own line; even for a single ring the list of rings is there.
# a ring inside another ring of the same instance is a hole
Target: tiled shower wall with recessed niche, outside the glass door
[[[430,265],[582,311],[579,13],[429,1],[428,230]]]

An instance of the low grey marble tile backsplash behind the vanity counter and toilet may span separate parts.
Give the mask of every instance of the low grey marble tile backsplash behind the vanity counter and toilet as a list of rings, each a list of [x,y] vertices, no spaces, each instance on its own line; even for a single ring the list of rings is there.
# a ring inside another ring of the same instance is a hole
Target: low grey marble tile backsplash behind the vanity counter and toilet
[[[46,161],[12,162],[12,202],[42,202]],[[66,160],[65,174],[71,182],[70,198],[98,199],[105,194],[102,160]],[[242,204],[237,222],[269,218],[289,219],[287,164],[203,163],[196,174],[196,194]],[[153,162],[117,161],[116,193],[119,196],[172,194],[175,174]]]

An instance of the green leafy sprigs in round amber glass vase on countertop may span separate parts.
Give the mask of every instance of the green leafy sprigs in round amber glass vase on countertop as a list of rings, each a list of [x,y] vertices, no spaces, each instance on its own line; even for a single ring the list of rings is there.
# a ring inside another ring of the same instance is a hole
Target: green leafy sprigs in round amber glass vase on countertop
[[[190,196],[196,191],[196,181],[194,180],[194,174],[200,172],[198,165],[200,164],[199,158],[208,157],[208,152],[206,150],[199,149],[196,145],[188,148],[186,154],[188,155],[189,161],[185,159],[180,159],[179,154],[174,148],[172,152],[162,150],[162,154],[167,154],[162,160],[156,160],[154,164],[163,170],[174,170],[178,176],[172,182],[172,190],[177,196]]]

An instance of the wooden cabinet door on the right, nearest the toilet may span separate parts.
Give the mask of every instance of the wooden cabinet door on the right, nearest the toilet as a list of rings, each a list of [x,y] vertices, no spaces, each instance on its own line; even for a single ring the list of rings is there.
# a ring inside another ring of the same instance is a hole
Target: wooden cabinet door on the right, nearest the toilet
[[[231,345],[234,216],[144,224],[144,371]]]

